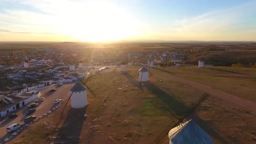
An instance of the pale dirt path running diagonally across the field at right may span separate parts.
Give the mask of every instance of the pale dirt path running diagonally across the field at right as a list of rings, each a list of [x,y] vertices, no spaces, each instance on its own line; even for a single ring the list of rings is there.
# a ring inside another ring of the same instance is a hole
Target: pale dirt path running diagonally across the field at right
[[[151,69],[151,71],[159,71],[157,69]],[[221,100],[224,100],[226,102],[232,103],[233,105],[239,106],[240,108],[243,108],[247,111],[250,111],[251,114],[256,115],[256,103],[253,101],[248,101],[243,98],[236,97],[234,95],[228,94],[226,92],[222,92],[220,90],[214,89],[210,86],[203,85],[197,82],[193,82],[187,79],[183,79],[181,77],[174,76],[170,73],[161,73],[161,76],[165,79],[171,80],[171,81],[177,81],[177,82],[183,82],[187,85],[190,85],[192,88],[196,88],[198,90],[201,90],[203,92],[206,92],[207,94],[220,98]]]

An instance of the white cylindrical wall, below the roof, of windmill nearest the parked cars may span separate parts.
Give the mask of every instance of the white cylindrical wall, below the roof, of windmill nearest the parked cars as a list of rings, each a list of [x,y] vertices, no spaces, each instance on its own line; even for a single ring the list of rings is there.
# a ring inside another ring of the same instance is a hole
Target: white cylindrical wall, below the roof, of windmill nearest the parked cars
[[[87,105],[87,90],[73,92],[71,95],[71,108],[84,108]]]

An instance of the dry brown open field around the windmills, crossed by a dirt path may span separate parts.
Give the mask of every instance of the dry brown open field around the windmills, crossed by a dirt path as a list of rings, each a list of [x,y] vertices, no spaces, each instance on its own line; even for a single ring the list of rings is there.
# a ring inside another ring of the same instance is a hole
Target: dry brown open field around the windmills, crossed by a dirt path
[[[232,87],[229,85],[225,87],[225,82],[241,85],[241,89],[248,86],[251,89],[254,88],[255,69],[236,69],[237,73],[233,73],[230,68],[211,68],[149,69],[149,82],[144,82],[142,88],[139,87],[138,82],[140,66],[129,65],[130,72],[125,75],[119,74],[120,68],[116,71],[109,69],[100,72],[93,75],[88,83],[98,96],[95,98],[88,93],[86,108],[88,117],[86,119],[76,115],[80,110],[70,110],[70,104],[68,104],[62,118],[59,118],[60,108],[43,120],[48,124],[53,122],[52,125],[56,126],[56,129],[54,127],[47,129],[49,125],[43,125],[40,121],[31,124],[9,143],[48,144],[61,141],[90,144],[151,143],[170,123],[169,118],[151,105],[154,98],[164,99],[178,115],[185,115],[190,105],[205,92],[203,88],[191,86],[189,82],[181,81],[181,79],[189,79],[198,84],[210,86],[212,88],[209,92],[217,90],[226,93],[232,92]],[[227,70],[232,72],[226,72]],[[250,78],[247,80],[242,76]],[[209,80],[204,79],[208,77]],[[219,78],[217,82],[213,79],[215,77]],[[232,79],[239,80],[233,81]],[[251,85],[249,85],[250,82]],[[253,92],[254,90],[252,93],[243,92],[244,95],[247,95],[246,98],[242,97],[242,93],[236,96],[254,101]],[[238,90],[230,94],[235,95],[236,93]],[[107,98],[106,104],[103,101],[104,97]],[[68,113],[68,111],[70,112]],[[210,135],[215,144],[254,144],[256,142],[256,115],[251,111],[241,109],[236,103],[218,97],[218,95],[210,95],[195,113],[189,115],[187,120],[190,118],[193,118]],[[69,131],[68,128],[72,128],[72,131]],[[40,129],[40,133],[38,133],[38,129]],[[30,137],[27,137],[28,134]],[[165,141],[166,143],[168,140]]]

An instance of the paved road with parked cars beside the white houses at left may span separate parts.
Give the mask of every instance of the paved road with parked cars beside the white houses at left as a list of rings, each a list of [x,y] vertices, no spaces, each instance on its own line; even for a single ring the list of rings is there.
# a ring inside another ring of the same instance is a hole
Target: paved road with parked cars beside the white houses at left
[[[75,83],[75,82],[74,82]],[[69,90],[70,88],[72,88],[72,86],[74,85],[74,83],[69,83],[69,84],[64,84],[62,86],[51,86],[51,87],[47,87],[47,88],[43,88],[40,89],[41,93],[43,95],[41,95],[41,97],[44,97],[45,100],[41,103],[39,103],[39,106],[36,107],[36,111],[31,114],[31,115],[36,115],[36,117],[39,117],[43,114],[47,114],[48,111],[52,111],[53,108],[55,108],[58,104],[54,104],[53,101],[55,101],[56,99],[65,99],[66,96],[69,94]],[[55,92],[48,92],[49,89],[52,88],[56,88]],[[34,101],[32,101],[31,103],[34,103]],[[23,120],[24,118],[26,118],[29,115],[25,115],[25,113],[29,110],[30,108],[20,108],[19,111],[16,112],[16,114],[18,115],[17,118],[14,119],[10,119],[10,118],[6,118],[2,121],[0,121],[0,143],[3,143],[3,140],[5,138],[9,138],[12,133],[7,133],[6,132],[6,128],[14,123],[22,123],[24,124]],[[25,127],[23,127],[24,129]],[[16,132],[16,131],[15,131]],[[18,132],[18,134],[21,131]]]

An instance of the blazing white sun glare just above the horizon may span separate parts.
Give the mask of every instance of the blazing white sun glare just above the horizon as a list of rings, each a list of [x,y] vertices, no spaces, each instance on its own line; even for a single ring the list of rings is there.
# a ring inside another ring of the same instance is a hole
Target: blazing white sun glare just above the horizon
[[[69,12],[63,14],[62,29],[72,39],[106,42],[138,35],[131,15],[109,3],[86,3]]]

